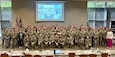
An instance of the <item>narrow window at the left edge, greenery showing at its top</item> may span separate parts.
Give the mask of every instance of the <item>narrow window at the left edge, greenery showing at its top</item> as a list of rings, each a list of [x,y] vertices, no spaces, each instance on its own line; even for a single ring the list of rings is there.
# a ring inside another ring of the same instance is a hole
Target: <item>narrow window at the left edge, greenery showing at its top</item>
[[[11,28],[12,3],[11,0],[0,0],[0,37],[1,30]]]

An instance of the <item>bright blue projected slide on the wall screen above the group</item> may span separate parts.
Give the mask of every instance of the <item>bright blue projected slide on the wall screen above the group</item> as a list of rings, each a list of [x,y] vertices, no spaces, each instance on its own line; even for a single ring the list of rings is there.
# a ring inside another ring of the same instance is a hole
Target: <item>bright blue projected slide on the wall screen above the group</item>
[[[63,3],[37,3],[37,21],[64,21]]]

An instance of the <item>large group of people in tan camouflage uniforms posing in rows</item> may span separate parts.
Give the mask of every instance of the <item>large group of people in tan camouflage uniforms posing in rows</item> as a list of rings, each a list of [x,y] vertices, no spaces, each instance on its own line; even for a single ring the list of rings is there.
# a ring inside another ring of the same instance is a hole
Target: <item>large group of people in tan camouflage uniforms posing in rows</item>
[[[15,48],[65,48],[106,46],[108,28],[43,25],[2,30],[2,46]]]

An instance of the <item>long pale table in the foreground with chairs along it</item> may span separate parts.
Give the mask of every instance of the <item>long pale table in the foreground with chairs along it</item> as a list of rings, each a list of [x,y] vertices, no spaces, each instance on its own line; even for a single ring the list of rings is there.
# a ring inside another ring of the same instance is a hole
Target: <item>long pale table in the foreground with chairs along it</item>
[[[31,55],[41,55],[42,57],[45,57],[46,55],[53,55],[55,57],[60,56],[68,56],[68,53],[75,53],[76,56],[79,56],[80,54],[96,54],[98,56],[101,55],[101,53],[108,53],[109,55],[115,55],[115,50],[61,50],[60,53],[54,54],[54,50],[20,50],[20,51],[0,51],[0,54],[7,53],[9,56],[24,56],[25,54],[31,54]]]

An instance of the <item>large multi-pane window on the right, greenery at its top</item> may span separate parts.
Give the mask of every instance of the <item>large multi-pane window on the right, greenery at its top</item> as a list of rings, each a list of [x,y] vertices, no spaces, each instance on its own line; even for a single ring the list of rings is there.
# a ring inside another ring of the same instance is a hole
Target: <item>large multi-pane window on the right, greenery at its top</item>
[[[89,1],[87,8],[89,26],[115,28],[115,25],[112,25],[112,22],[115,21],[115,1]]]

